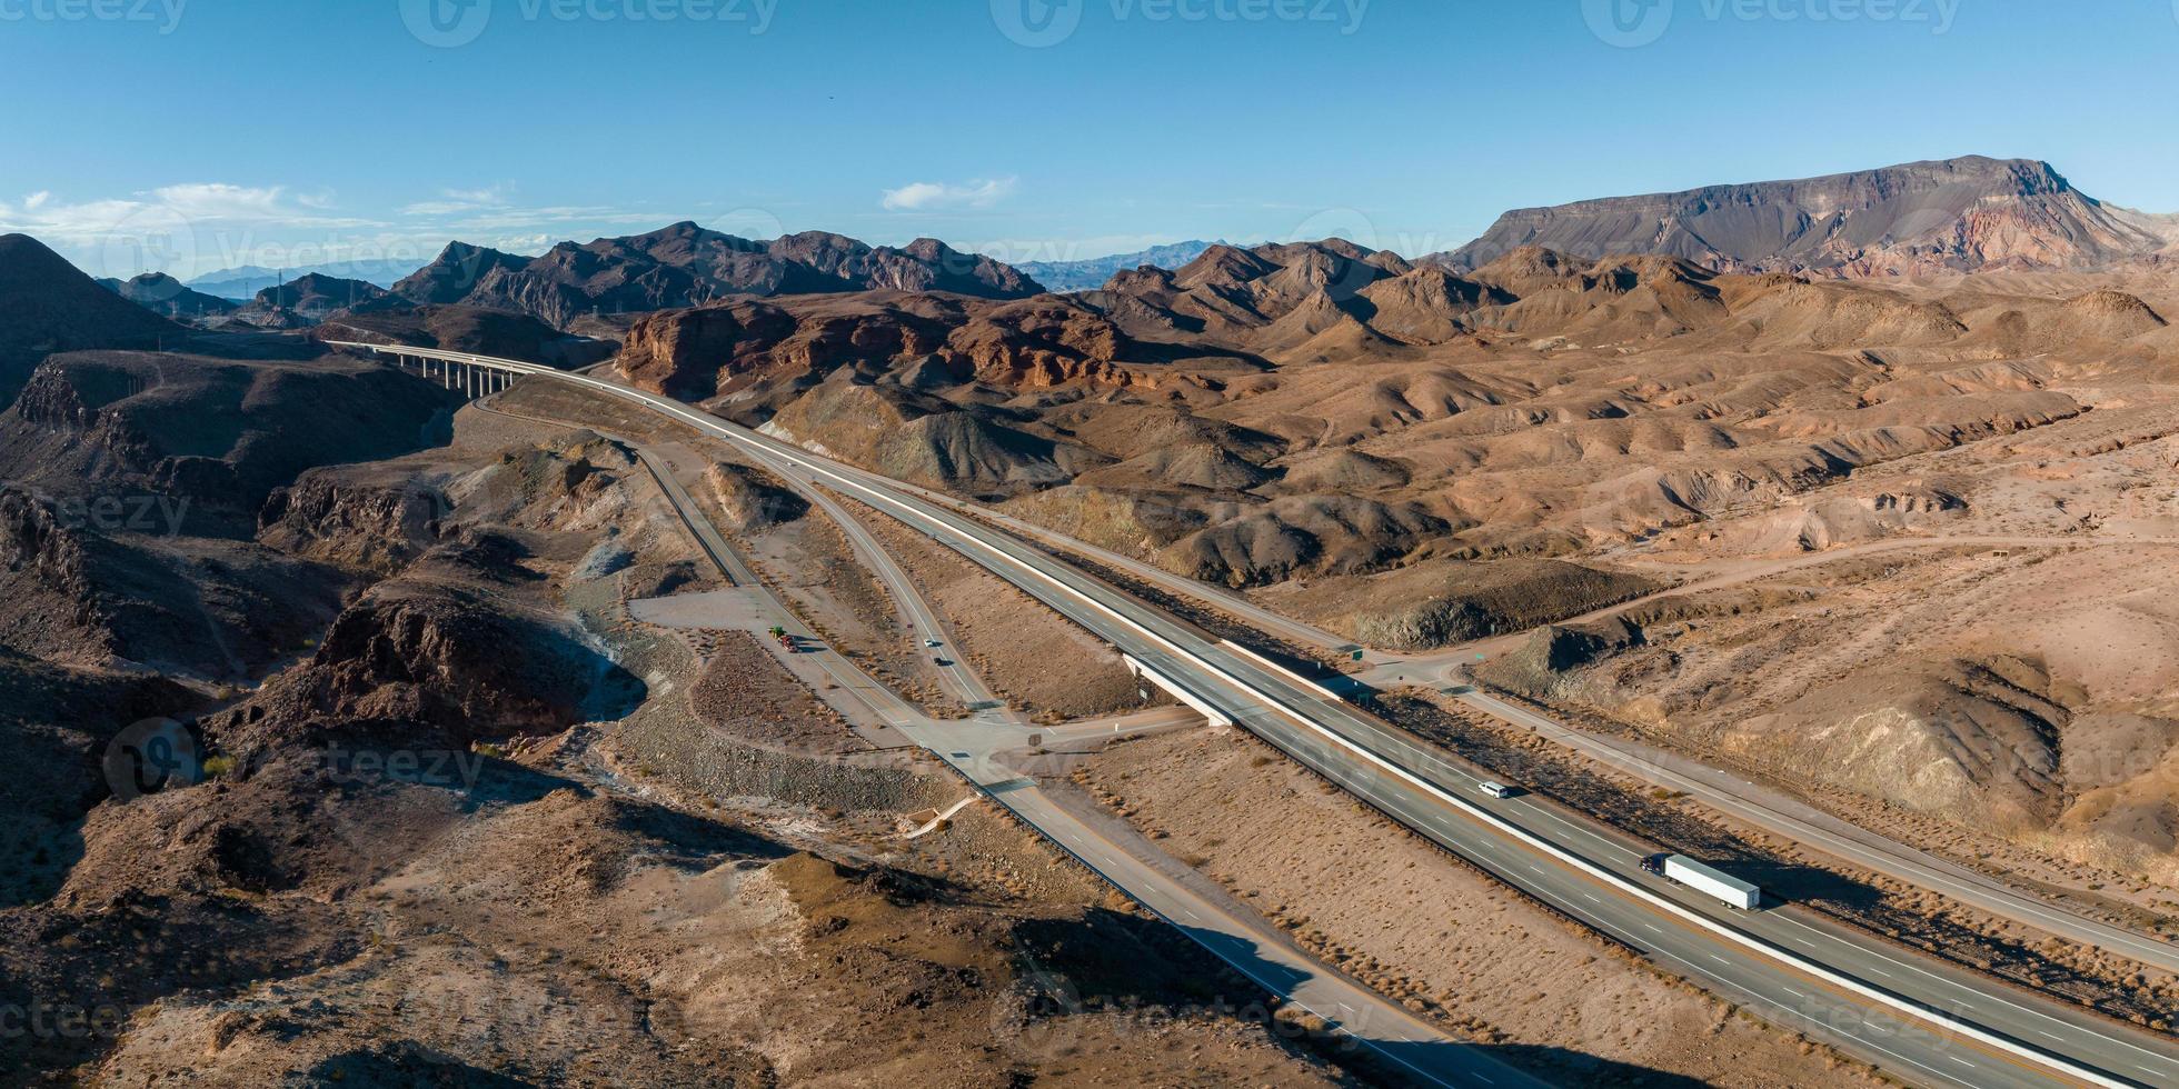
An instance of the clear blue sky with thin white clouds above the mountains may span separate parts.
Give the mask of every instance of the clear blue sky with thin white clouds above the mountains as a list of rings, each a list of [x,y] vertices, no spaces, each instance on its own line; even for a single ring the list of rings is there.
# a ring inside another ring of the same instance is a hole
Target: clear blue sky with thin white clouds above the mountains
[[[0,0],[0,229],[98,274],[673,220],[1423,253],[1968,152],[2179,211],[2172,57],[2172,0]]]

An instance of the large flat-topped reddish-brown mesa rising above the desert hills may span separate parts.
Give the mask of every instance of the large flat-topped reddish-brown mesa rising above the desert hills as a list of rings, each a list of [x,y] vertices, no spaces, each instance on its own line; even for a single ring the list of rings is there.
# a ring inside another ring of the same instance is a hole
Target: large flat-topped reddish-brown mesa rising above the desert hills
[[[1543,246],[1584,259],[1669,255],[1721,272],[1874,277],[2107,268],[2175,240],[2179,216],[2105,205],[2044,161],[1970,155],[1517,209],[1429,259],[1473,270]]]

